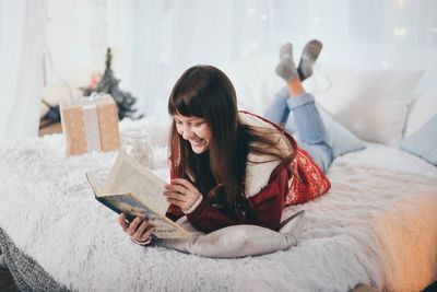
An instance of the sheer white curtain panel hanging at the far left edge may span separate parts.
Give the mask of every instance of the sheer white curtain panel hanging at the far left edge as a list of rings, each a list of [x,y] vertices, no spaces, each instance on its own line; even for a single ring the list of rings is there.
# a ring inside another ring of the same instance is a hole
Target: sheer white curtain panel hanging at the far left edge
[[[0,143],[37,136],[46,0],[0,0]]]

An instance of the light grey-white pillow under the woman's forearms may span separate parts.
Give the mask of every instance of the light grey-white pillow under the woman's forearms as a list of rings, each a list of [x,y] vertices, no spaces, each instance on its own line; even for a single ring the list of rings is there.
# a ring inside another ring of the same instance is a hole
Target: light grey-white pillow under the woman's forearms
[[[234,225],[204,234],[182,217],[177,223],[194,234],[194,237],[161,240],[156,244],[203,257],[236,258],[265,255],[296,245],[305,222],[305,211],[299,211],[284,220],[281,232],[257,225]]]

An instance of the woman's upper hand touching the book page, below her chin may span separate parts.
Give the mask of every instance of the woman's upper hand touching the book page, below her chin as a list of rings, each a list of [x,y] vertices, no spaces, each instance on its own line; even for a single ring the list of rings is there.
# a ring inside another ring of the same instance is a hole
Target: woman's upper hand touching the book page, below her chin
[[[200,191],[187,179],[175,178],[165,186],[164,195],[167,200],[180,207],[182,211],[190,209],[201,196]]]

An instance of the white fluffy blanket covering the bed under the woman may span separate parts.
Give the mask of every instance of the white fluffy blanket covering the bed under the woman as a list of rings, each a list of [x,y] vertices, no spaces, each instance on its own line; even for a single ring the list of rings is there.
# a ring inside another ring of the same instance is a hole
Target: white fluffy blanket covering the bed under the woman
[[[167,178],[166,126],[147,125],[158,142],[156,173]],[[329,172],[328,195],[286,210],[307,211],[299,246],[210,259],[131,243],[84,175],[109,170],[115,156],[66,157],[61,135],[0,149],[0,227],[72,290],[347,291],[367,283],[418,291],[437,280],[437,172],[388,171],[345,155]]]

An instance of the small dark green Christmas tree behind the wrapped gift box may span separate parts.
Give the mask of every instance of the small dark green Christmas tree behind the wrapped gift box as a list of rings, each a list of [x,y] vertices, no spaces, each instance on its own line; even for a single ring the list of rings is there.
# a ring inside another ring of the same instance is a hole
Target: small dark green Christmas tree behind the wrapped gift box
[[[113,69],[110,68],[111,60],[113,54],[110,51],[110,48],[108,48],[108,50],[106,51],[105,73],[103,74],[96,86],[81,87],[80,90],[82,91],[82,94],[84,96],[88,96],[94,92],[108,93],[114,97],[118,106],[118,118],[120,120],[125,117],[129,117],[132,119],[142,118],[143,115],[140,115],[138,117],[134,117],[133,115],[137,112],[137,109],[133,108],[133,104],[137,102],[137,97],[133,97],[132,94],[130,94],[129,92],[121,91],[119,89],[118,83],[120,83],[120,80],[114,77]]]

